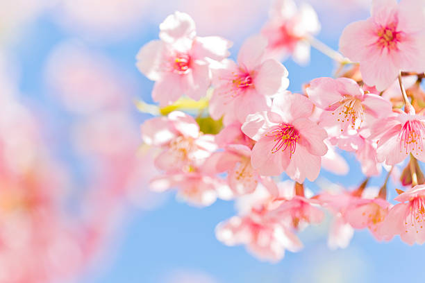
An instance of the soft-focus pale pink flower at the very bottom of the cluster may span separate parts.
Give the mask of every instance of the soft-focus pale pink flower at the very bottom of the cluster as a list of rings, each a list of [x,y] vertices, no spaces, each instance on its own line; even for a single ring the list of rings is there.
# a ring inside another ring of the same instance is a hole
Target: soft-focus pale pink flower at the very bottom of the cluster
[[[227,246],[246,245],[247,250],[259,259],[272,262],[282,259],[285,250],[297,252],[302,248],[294,233],[256,211],[219,223],[215,234]]]

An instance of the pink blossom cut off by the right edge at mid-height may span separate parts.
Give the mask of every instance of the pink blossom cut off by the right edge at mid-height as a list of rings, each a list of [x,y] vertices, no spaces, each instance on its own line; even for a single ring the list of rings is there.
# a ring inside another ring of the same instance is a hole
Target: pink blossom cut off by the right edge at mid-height
[[[378,138],[378,162],[385,161],[387,165],[395,165],[402,162],[409,153],[418,160],[425,161],[424,122],[424,116],[402,111],[394,112],[387,119],[376,121],[372,127],[371,138]]]

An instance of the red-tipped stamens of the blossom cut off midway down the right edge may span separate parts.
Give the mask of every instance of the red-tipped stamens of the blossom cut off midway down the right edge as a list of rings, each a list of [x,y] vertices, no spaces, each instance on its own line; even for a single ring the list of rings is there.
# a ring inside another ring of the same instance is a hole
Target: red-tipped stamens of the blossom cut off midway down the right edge
[[[399,139],[404,146],[406,154],[412,151],[416,151],[416,153],[422,151],[422,139],[424,139],[422,134],[424,130],[425,126],[421,121],[412,120],[404,123]]]

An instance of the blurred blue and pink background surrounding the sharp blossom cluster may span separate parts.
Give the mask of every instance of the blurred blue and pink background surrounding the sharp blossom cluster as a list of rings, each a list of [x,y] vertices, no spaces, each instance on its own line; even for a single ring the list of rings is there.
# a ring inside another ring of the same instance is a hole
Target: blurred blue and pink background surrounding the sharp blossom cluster
[[[322,23],[317,37],[333,49],[344,26],[369,15],[367,0],[310,3]],[[269,264],[215,239],[215,225],[235,214],[232,202],[199,209],[149,191],[156,171],[140,148],[140,123],[150,116],[135,101],[152,103],[153,82],[135,67],[138,50],[180,10],[198,35],[233,41],[235,58],[269,4],[0,0],[0,282],[423,282],[425,248],[398,237],[378,243],[356,231],[348,248],[329,250],[325,221],[301,232],[301,252]],[[284,64],[293,92],[335,70],[315,50],[306,67]],[[349,174],[324,171],[319,183],[361,182],[353,155],[343,156]]]

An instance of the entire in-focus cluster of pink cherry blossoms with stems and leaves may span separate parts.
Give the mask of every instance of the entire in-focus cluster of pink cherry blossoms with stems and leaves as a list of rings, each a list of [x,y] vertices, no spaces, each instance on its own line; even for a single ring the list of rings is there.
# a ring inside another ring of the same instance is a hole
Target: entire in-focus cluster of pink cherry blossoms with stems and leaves
[[[297,232],[321,223],[325,211],[334,218],[331,248],[344,248],[353,230],[363,228],[378,241],[399,235],[408,244],[425,242],[418,162],[425,162],[424,1],[373,1],[371,17],[344,28],[340,53],[313,37],[320,29],[313,8],[291,0],[275,1],[268,22],[244,41],[235,61],[228,58],[230,41],[197,36],[183,12],[159,28],[160,39],[137,55],[159,103],[151,111],[158,117],[141,126],[162,172],[151,189],[176,189],[199,207],[236,200],[238,215],[217,225],[217,239],[269,261],[300,250]],[[280,61],[292,55],[306,64],[310,45],[331,56],[338,71],[292,93]],[[365,180],[313,194],[304,182],[317,180],[322,167],[349,171],[341,151],[353,153]],[[382,171],[381,188],[369,186]],[[396,205],[387,200],[390,176],[406,186],[396,189]]]

